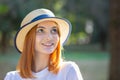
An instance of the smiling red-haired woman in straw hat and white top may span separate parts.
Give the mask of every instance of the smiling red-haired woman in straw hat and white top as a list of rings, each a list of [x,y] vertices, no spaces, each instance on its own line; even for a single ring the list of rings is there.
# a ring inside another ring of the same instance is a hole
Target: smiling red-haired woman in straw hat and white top
[[[76,63],[63,61],[61,49],[71,33],[71,23],[48,9],[30,12],[15,37],[21,53],[16,71],[4,80],[83,80]]]

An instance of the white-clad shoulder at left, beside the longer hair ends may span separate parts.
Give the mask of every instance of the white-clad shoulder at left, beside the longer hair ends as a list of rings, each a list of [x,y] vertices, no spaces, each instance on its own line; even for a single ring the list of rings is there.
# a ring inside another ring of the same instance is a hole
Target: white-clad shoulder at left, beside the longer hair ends
[[[18,71],[10,71],[6,74],[4,80],[20,80]]]

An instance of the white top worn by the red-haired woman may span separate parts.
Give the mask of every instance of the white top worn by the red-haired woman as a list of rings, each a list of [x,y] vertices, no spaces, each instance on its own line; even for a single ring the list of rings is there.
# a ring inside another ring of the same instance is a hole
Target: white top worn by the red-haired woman
[[[8,72],[4,80],[83,80],[80,70],[74,62],[62,62],[58,74],[53,74],[48,71],[48,68],[40,72],[34,73],[36,78],[22,78],[18,71]]]

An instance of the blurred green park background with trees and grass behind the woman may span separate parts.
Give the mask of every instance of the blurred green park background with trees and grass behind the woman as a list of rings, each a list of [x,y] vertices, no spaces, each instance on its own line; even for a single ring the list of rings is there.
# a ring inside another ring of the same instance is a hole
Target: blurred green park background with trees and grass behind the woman
[[[0,80],[15,70],[19,60],[14,37],[22,19],[38,8],[71,21],[63,58],[79,65],[84,80],[120,80],[119,4],[119,0],[0,0]]]

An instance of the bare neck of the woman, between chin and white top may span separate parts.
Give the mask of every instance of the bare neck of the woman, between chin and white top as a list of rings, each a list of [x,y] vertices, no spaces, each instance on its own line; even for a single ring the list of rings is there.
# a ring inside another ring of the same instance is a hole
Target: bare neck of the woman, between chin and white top
[[[39,72],[39,71],[45,69],[46,67],[48,67],[49,56],[50,55],[48,55],[48,54],[35,55],[33,71],[34,72]]]

